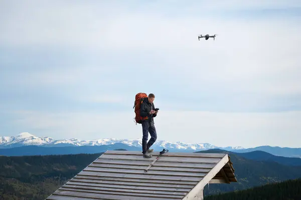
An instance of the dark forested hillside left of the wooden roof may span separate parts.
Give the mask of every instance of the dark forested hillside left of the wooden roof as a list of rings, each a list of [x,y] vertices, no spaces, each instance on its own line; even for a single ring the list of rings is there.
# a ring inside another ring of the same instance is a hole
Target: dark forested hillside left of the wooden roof
[[[0,200],[42,200],[102,153],[0,156]]]

